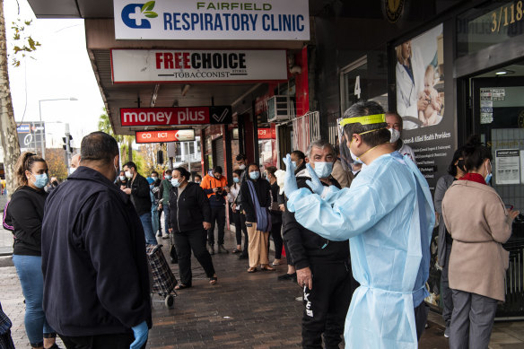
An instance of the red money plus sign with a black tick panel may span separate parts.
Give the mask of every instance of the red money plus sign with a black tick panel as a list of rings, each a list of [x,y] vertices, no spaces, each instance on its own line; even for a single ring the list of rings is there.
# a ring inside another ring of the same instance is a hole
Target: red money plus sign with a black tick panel
[[[231,124],[231,106],[177,108],[121,108],[123,127]]]

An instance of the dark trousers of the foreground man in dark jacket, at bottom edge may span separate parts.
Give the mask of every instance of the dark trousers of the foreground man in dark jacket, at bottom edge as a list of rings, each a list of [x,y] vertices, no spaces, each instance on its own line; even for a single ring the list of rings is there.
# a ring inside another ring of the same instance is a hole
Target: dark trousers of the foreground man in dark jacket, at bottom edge
[[[135,341],[132,334],[99,336],[61,336],[67,349],[129,349]],[[142,347],[145,348],[145,345]]]

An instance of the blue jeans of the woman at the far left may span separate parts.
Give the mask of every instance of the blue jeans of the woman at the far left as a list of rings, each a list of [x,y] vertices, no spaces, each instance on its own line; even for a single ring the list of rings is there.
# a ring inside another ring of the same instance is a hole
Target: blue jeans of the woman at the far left
[[[42,309],[44,296],[44,276],[42,275],[42,257],[13,255],[13,265],[22,284],[25,298],[25,332],[31,346],[41,346],[44,334],[53,334]]]

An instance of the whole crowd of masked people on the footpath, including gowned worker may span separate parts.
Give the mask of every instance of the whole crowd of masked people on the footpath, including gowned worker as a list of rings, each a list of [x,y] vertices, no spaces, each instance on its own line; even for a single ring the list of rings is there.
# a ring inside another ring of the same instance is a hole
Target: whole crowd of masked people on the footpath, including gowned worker
[[[440,221],[444,336],[452,349],[487,347],[505,296],[502,243],[520,214],[488,185],[491,150],[468,140],[432,197],[400,140],[402,118],[359,102],[339,126],[338,149],[311,142],[284,158],[285,172],[239,154],[231,186],[220,166],[193,181],[182,167],[163,179],[156,171],[144,178],[133,161],[120,171],[115,139],[95,132],[83,138],[69,178],[48,194],[45,160],[23,153],[4,226],[15,236],[31,347],[56,348],[59,334],[68,348],[144,348],[152,327],[144,245],[158,244],[157,233],[171,238],[177,290],[193,286],[191,253],[217,284],[214,228],[216,251],[228,253],[226,210],[235,226],[231,253],[249,260],[248,273],[275,271],[284,248],[287,273],[278,280],[302,289],[303,348],[337,348],[342,335],[348,348],[416,348]]]

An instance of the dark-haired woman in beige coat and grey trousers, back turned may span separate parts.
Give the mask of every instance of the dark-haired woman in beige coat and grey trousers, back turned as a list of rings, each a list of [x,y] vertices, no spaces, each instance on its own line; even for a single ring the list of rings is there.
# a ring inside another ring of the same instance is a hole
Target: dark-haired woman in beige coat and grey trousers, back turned
[[[442,200],[442,217],[453,239],[449,260],[453,313],[450,349],[487,348],[497,303],[505,301],[504,278],[511,223],[519,211],[506,209],[492,178],[492,153],[472,137],[462,151],[467,173]]]

